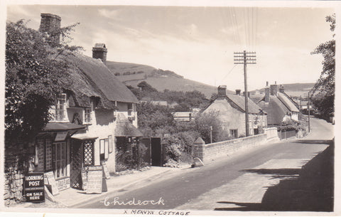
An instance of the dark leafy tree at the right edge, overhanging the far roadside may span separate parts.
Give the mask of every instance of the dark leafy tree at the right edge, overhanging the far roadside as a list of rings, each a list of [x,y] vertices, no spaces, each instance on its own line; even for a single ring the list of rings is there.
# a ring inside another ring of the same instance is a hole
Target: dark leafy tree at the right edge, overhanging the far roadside
[[[330,31],[335,30],[335,14],[326,17]],[[332,35],[335,37],[335,34]],[[321,43],[312,54],[323,55],[323,71],[313,87],[312,101],[315,107],[328,118],[334,116],[335,100],[335,39]]]

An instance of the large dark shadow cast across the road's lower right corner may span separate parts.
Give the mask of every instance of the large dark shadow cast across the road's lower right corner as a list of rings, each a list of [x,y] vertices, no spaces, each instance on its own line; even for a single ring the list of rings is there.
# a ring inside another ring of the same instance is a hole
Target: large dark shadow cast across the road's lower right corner
[[[269,186],[261,203],[218,201],[237,207],[215,208],[215,211],[333,211],[334,143],[316,155],[302,169],[246,169],[246,172],[271,174],[281,178]]]

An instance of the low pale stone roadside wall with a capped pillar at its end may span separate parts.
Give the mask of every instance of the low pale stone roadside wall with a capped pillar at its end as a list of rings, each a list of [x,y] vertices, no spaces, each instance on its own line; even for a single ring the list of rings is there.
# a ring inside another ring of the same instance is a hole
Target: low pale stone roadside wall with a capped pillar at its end
[[[265,144],[267,142],[266,136],[267,134],[264,133],[256,136],[243,137],[211,144],[205,144],[201,138],[198,138],[193,144],[193,157],[197,157],[207,164],[220,157],[233,154],[240,149]]]

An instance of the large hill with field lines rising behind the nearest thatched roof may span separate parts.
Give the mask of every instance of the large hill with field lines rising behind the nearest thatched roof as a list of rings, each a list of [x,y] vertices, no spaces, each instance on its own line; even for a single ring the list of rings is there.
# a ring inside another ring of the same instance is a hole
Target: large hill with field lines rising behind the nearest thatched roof
[[[146,81],[158,91],[166,89],[184,92],[198,90],[207,98],[210,98],[212,93],[217,92],[215,86],[189,80],[170,70],[156,69],[149,65],[107,61],[107,66],[121,82],[135,88],[141,81]],[[233,91],[227,90],[227,93],[233,93]]]

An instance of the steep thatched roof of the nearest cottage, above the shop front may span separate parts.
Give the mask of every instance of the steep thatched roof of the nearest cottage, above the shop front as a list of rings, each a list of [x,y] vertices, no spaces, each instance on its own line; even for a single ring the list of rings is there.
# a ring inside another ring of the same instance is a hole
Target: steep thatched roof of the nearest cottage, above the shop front
[[[61,77],[70,95],[70,106],[90,107],[90,97],[98,108],[115,109],[117,102],[138,102],[135,95],[109,71],[102,60],[81,54],[67,55],[67,76]]]

